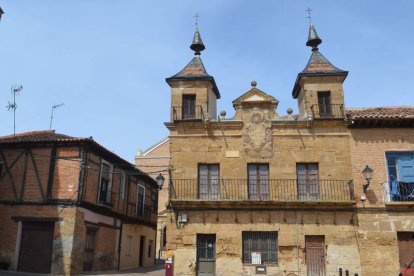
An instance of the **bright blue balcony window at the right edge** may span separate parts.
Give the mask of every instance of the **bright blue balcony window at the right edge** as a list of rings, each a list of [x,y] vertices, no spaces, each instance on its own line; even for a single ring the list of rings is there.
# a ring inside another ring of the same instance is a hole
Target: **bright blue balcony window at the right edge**
[[[414,153],[388,152],[385,156],[392,201],[414,201]]]

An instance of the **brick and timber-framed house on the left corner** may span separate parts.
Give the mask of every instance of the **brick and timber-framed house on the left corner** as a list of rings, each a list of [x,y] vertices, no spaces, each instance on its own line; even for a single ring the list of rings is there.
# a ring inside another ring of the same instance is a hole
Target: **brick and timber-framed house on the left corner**
[[[154,264],[156,182],[92,138],[0,137],[0,189],[3,269],[77,275]]]

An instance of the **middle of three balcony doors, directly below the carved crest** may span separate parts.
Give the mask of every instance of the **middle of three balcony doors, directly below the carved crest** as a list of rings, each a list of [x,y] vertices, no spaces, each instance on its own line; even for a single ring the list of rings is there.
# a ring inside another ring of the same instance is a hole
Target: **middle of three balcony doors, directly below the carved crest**
[[[269,164],[249,164],[249,199],[269,199]]]

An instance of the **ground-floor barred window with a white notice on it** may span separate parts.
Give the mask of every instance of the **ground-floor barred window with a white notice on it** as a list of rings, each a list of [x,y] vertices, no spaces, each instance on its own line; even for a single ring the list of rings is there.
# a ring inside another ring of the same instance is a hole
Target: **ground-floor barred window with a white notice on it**
[[[277,264],[277,232],[243,232],[244,264]]]

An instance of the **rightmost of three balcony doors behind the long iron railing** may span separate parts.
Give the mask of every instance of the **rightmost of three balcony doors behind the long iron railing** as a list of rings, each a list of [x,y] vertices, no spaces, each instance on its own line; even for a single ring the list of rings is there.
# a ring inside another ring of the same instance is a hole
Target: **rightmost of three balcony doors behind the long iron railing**
[[[297,164],[298,199],[318,200],[318,164]]]

